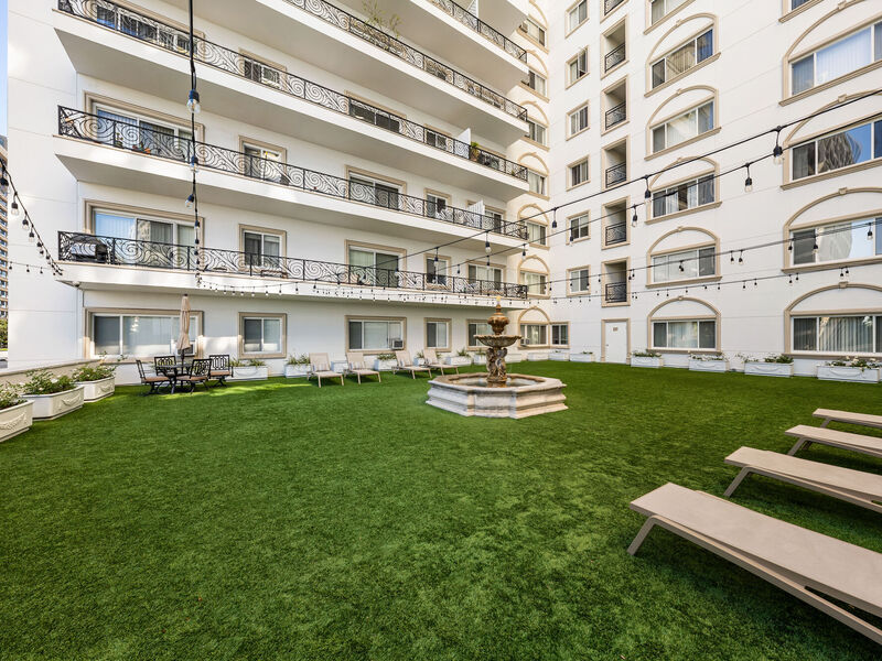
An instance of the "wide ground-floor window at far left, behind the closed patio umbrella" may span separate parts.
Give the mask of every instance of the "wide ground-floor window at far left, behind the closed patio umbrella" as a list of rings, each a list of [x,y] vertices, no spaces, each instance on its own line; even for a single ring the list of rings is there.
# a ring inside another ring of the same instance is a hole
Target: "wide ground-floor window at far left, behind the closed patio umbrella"
[[[150,357],[178,354],[181,316],[96,314],[92,318],[95,356]],[[190,342],[200,335],[198,316],[190,317]]]

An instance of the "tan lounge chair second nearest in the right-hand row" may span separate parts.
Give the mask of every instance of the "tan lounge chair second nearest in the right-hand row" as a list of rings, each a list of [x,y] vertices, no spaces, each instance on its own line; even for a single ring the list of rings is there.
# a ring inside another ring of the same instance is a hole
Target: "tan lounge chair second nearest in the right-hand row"
[[[731,496],[750,474],[764,475],[882,513],[882,475],[809,462],[767,449],[742,447],[725,457],[738,474],[725,490]]]

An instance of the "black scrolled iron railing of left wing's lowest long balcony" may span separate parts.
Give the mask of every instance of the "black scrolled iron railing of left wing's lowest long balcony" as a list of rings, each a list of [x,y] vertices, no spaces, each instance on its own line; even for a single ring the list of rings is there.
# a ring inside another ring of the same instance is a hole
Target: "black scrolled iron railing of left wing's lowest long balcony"
[[[198,270],[201,273],[250,275],[310,284],[417,290],[463,296],[527,297],[527,286],[524,284],[72,231],[58,232],[58,260],[173,271]]]

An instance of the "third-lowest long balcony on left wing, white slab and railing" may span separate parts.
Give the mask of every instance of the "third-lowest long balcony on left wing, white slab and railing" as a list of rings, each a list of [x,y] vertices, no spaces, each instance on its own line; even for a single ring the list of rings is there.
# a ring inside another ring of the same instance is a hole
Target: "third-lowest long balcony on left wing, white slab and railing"
[[[170,90],[189,85],[183,82],[190,77],[189,34],[128,10],[99,20],[97,6],[88,0],[60,0],[60,7],[66,14],[92,23],[87,30],[82,21],[64,25],[67,19],[61,14],[62,24],[56,25],[79,73],[121,85],[137,79],[144,91],[165,97]],[[127,18],[117,20],[120,17]],[[137,23],[130,22],[131,17]],[[119,39],[107,39],[108,30]],[[132,39],[148,48],[132,54],[128,47]],[[230,48],[198,37],[195,41],[196,59],[211,67],[201,75],[203,107],[208,111],[245,122],[259,116],[267,129],[320,141],[492,197],[506,199],[526,191],[527,169],[523,165]],[[157,48],[161,54],[154,52]],[[322,110],[316,111],[316,106]]]

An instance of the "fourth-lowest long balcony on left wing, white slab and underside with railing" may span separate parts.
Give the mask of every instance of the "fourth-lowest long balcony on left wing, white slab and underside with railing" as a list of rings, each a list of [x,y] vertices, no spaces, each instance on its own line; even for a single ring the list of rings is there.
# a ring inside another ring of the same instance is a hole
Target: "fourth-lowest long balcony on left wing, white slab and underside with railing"
[[[170,2],[187,7],[186,0]],[[518,130],[524,133],[524,107],[324,0],[252,0],[248,11],[241,0],[213,0],[209,15],[214,23],[492,141],[510,144]]]

